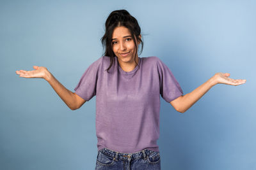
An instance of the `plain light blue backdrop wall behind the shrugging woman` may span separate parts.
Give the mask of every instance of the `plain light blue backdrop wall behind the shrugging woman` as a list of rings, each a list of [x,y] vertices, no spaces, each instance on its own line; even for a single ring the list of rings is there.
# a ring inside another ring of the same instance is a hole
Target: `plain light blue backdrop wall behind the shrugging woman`
[[[256,169],[255,1],[0,1],[0,169],[94,169],[95,98],[70,110],[47,81],[16,70],[45,66],[74,92],[102,56],[113,10],[137,18],[145,48],[187,94],[215,73],[218,84],[181,114],[161,98],[162,169]],[[254,105],[254,106],[253,106]]]

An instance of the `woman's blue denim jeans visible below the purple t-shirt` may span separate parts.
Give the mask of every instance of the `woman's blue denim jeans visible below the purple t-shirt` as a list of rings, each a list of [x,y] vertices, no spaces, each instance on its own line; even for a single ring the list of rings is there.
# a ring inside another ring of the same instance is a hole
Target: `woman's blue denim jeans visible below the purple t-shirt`
[[[135,153],[120,153],[108,148],[98,151],[95,170],[161,170],[160,153],[142,150]]]

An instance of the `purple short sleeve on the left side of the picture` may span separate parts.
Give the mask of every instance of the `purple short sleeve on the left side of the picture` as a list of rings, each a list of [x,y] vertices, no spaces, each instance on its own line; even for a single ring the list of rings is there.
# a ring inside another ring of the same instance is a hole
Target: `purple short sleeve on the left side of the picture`
[[[80,78],[79,83],[77,84],[75,93],[82,97],[85,101],[90,101],[93,96],[96,95],[97,89],[97,79],[99,77],[99,67],[102,61],[102,57],[100,59],[93,62],[83,73]]]

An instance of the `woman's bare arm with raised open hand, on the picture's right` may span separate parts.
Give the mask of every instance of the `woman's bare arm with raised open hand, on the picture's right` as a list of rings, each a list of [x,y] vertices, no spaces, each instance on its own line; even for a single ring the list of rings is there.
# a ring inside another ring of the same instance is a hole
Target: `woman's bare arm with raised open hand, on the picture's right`
[[[197,87],[192,92],[180,96],[177,99],[174,99],[170,102],[175,110],[179,111],[180,113],[184,113],[187,111],[193,104],[196,103],[204,94],[211,89],[214,85],[218,83],[226,84],[226,85],[241,85],[246,82],[246,80],[241,79],[232,79],[228,78],[230,76],[229,73],[216,73],[212,76],[209,80],[205,83]]]

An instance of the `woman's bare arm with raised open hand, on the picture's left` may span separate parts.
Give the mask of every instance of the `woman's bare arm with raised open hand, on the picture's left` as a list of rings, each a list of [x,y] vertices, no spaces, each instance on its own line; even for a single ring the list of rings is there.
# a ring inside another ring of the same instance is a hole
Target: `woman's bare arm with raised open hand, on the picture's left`
[[[51,85],[51,87],[55,90],[55,92],[60,96],[62,101],[64,101],[65,104],[67,104],[68,108],[71,110],[76,110],[80,108],[86,101],[75,94],[74,92],[71,92],[70,90],[66,89],[48,70],[46,67],[38,67],[33,66],[35,70],[32,71],[16,71],[17,74],[20,75],[20,77],[24,78],[44,78],[48,83]]]

